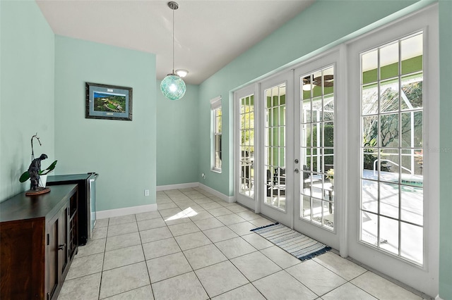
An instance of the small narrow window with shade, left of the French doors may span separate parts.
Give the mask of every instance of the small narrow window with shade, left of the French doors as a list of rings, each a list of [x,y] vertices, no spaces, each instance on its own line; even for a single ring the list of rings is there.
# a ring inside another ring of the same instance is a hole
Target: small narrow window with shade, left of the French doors
[[[221,172],[221,97],[210,101],[212,111],[212,151],[210,154],[212,170]]]

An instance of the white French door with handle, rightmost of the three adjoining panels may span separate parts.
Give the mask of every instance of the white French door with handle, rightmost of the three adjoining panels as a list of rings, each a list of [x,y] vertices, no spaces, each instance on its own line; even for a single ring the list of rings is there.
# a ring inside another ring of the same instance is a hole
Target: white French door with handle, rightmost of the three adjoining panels
[[[335,130],[339,51],[316,57],[295,69],[294,228],[340,249],[337,199],[343,168],[337,156]],[[342,149],[341,149],[342,150]],[[342,150],[343,151],[343,150]],[[338,168],[339,167],[339,168]]]

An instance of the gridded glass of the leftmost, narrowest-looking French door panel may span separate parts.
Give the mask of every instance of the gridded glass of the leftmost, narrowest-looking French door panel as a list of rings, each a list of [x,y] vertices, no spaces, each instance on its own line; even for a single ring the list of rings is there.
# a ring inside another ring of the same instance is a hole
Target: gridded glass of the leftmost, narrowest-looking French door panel
[[[240,194],[254,196],[254,95],[240,99]]]

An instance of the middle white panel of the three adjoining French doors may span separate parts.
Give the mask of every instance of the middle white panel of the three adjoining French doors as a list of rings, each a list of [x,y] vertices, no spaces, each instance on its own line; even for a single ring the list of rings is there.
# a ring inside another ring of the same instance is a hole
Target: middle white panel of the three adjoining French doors
[[[293,72],[261,82],[258,101],[259,211],[293,226]]]

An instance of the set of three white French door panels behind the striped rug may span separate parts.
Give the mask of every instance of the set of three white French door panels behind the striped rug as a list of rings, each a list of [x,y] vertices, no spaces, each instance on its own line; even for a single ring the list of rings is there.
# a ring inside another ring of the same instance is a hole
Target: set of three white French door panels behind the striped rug
[[[334,172],[343,168],[334,170],[338,56],[316,57],[234,95],[237,201],[335,249],[341,189]]]

